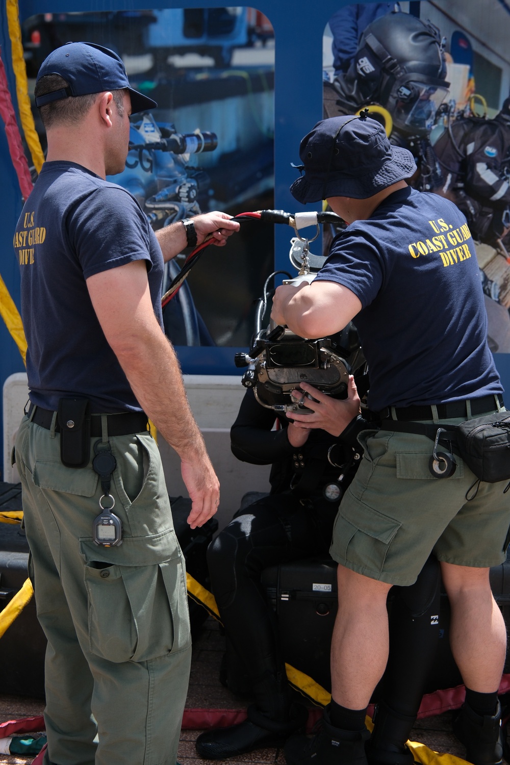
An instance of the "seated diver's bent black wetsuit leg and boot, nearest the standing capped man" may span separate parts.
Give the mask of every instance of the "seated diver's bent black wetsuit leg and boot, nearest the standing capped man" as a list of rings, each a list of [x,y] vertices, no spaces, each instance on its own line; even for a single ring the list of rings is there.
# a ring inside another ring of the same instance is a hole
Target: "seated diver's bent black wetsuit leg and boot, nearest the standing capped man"
[[[281,744],[307,718],[304,708],[291,705],[261,572],[270,565],[327,553],[328,534],[320,533],[313,508],[304,508],[290,494],[265,497],[242,513],[211,543],[207,562],[219,615],[245,665],[255,705],[249,707],[245,722],[198,737],[197,752],[207,759]]]

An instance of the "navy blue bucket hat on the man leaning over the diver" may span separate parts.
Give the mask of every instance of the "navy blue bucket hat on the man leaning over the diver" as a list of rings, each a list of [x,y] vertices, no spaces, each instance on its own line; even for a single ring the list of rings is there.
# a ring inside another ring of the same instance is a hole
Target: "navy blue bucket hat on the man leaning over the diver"
[[[385,129],[364,113],[317,122],[300,143],[300,170],[291,194],[303,204],[328,197],[367,199],[416,171],[411,151],[392,146]]]

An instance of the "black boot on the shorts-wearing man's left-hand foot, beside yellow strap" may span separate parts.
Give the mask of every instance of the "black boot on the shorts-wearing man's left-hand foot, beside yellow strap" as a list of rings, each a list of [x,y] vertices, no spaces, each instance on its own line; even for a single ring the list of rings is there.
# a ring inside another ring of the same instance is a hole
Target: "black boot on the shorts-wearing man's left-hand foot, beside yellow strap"
[[[312,739],[293,736],[284,746],[287,765],[367,765],[365,741],[369,731],[342,731],[333,728],[328,714],[323,712],[320,731]]]

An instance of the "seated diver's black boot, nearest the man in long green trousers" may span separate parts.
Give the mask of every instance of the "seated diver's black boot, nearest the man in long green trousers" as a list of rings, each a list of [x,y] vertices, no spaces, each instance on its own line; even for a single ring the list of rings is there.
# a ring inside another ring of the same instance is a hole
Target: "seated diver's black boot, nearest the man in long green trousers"
[[[215,728],[197,738],[197,754],[204,760],[226,760],[264,747],[281,747],[294,733],[304,731],[308,710],[289,701],[290,689],[281,674],[271,672],[253,683],[257,703],[248,718],[229,728]]]

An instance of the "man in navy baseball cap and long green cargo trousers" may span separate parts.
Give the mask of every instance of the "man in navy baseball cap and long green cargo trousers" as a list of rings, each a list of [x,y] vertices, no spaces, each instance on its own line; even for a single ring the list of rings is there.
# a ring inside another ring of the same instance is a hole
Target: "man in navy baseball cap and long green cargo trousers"
[[[16,462],[47,636],[45,765],[176,762],[190,670],[184,558],[150,417],[177,451],[195,528],[219,484],[162,331],[164,260],[225,213],[151,230],[106,181],[129,114],[157,106],[112,50],[70,43],[35,87],[47,161],[15,231],[30,404]]]

